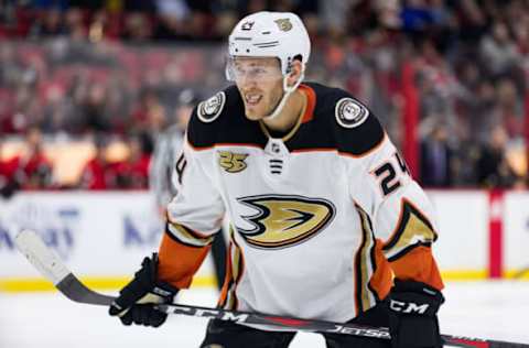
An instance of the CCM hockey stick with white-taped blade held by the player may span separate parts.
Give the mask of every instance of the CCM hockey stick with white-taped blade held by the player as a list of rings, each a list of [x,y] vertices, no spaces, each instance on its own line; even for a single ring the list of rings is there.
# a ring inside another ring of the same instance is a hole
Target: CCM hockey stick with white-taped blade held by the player
[[[86,287],[64,264],[60,257],[47,248],[34,231],[22,230],[14,239],[15,246],[42,275],[50,280],[66,297],[74,302],[108,306],[115,297]],[[250,325],[273,325],[294,330],[344,334],[370,338],[390,339],[387,328],[366,327],[323,320],[299,319],[258,313],[207,308],[199,306],[163,304],[158,309],[168,314],[182,314],[216,318]],[[529,345],[496,341],[481,338],[442,335],[445,345],[475,348],[529,348]]]

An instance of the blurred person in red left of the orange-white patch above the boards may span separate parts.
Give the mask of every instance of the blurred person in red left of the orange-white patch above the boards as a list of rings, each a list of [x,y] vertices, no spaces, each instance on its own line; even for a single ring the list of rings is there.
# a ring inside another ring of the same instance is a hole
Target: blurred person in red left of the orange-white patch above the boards
[[[25,135],[28,152],[21,157],[22,188],[44,189],[53,187],[52,162],[42,150],[42,134],[39,128],[30,128]]]

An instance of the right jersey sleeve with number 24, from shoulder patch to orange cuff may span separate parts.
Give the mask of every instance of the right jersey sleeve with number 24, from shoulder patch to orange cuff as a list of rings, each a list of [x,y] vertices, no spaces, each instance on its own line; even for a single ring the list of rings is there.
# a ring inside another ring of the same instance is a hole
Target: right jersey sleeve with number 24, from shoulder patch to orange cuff
[[[431,251],[438,239],[433,207],[377,118],[357,100],[348,98],[347,102],[348,111],[338,110],[338,101],[335,115],[350,197],[368,213],[395,276],[441,290]]]

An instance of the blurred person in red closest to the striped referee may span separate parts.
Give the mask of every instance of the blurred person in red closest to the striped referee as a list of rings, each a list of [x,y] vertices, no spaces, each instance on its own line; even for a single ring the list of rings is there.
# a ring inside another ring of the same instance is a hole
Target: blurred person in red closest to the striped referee
[[[128,140],[129,155],[116,165],[119,188],[145,189],[149,183],[150,155],[145,149],[144,137],[132,135]]]

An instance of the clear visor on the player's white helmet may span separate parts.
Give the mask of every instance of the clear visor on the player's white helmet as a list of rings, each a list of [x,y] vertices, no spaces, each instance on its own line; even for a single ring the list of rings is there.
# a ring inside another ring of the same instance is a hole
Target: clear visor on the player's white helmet
[[[274,81],[281,79],[280,63],[278,58],[270,57],[231,57],[227,58],[226,77],[229,81]]]

